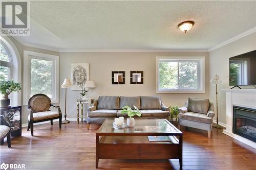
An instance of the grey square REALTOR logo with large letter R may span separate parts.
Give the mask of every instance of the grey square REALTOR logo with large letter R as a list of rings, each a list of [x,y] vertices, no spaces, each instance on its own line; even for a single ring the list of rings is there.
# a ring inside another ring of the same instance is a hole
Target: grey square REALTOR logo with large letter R
[[[1,35],[29,35],[28,15],[28,2],[2,2]]]

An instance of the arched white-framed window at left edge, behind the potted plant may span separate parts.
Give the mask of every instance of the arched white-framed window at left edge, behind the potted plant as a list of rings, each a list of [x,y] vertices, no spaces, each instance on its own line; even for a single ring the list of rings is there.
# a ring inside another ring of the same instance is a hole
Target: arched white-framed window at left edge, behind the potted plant
[[[21,82],[21,61],[18,50],[7,36],[0,40],[0,80]],[[0,93],[2,99],[2,94]],[[11,105],[20,105],[20,92],[10,94]]]

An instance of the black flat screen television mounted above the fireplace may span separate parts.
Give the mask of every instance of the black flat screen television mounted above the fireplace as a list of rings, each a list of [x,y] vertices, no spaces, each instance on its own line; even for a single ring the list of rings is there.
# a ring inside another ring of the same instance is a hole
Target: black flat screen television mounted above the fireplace
[[[256,85],[256,50],[229,58],[229,85]]]

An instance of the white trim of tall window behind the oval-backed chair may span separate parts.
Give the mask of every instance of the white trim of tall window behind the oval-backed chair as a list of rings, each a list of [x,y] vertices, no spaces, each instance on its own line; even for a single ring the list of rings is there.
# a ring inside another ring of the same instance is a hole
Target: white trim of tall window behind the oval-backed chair
[[[53,98],[51,99],[52,103],[59,102],[59,56],[49,55],[44,53],[36,53],[30,51],[24,51],[24,90],[23,90],[23,105],[27,106],[30,98],[30,68],[31,68],[31,58],[36,59],[46,59],[54,61],[53,69]]]

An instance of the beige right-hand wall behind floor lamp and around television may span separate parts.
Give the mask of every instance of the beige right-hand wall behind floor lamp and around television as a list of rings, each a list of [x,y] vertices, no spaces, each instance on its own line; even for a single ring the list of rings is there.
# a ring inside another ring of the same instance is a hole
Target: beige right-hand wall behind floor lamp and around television
[[[222,84],[219,86],[219,122],[226,124],[226,94],[221,89],[229,87],[229,58],[250,51],[256,50],[256,33],[252,33],[239,40],[233,41],[224,45],[217,50],[209,52],[209,77],[212,78],[215,74],[220,76]],[[215,86],[209,85],[209,98],[215,101]],[[216,102],[215,102],[216,103]],[[216,118],[216,116],[215,116]]]

